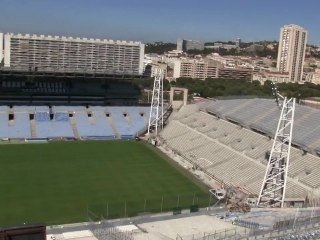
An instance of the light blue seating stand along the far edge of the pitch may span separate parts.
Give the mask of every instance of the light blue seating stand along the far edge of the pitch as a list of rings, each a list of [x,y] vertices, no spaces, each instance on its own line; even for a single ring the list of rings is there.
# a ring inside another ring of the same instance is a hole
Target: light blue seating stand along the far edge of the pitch
[[[0,106],[0,138],[132,139],[147,127],[149,107]]]

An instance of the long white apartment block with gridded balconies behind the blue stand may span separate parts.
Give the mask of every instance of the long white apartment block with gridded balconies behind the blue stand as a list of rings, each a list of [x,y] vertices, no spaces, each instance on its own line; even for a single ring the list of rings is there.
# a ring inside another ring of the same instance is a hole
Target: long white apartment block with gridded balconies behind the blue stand
[[[143,73],[141,42],[7,33],[3,48],[4,67],[16,70]]]

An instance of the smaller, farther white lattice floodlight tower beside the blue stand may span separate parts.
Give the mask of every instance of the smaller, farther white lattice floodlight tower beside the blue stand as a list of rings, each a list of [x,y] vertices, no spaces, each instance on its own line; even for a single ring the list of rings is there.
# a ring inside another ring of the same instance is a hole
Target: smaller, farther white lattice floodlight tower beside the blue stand
[[[163,128],[163,70],[155,70],[152,101],[150,107],[148,135],[154,130],[154,135],[158,135],[158,128]]]

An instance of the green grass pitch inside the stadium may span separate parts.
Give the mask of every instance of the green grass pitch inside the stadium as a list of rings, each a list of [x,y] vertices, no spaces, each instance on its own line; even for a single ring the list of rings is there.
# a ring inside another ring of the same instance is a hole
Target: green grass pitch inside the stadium
[[[208,205],[208,191],[134,141],[0,145],[0,226]]]

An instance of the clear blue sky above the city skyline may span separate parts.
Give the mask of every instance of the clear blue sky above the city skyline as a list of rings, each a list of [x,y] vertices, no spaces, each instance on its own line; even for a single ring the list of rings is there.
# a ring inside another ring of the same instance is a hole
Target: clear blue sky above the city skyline
[[[320,44],[319,0],[0,0],[0,32],[143,42],[278,40],[297,24]]]

